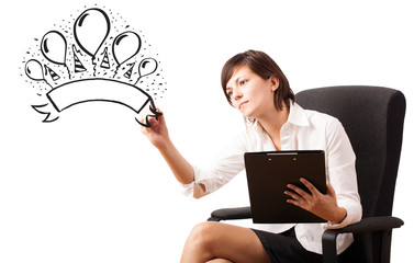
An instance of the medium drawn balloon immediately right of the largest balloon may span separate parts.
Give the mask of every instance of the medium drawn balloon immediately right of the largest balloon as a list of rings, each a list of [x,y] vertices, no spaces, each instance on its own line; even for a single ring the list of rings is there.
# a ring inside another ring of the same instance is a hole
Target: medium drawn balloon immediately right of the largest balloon
[[[112,45],[113,56],[119,65],[135,56],[141,49],[141,37],[132,31],[115,37]]]

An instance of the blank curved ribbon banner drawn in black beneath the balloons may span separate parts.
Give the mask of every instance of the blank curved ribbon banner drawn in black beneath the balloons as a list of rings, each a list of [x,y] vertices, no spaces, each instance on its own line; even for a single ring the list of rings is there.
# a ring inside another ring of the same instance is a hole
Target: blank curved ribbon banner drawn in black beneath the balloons
[[[59,117],[59,112],[76,104],[104,101],[119,103],[133,110],[138,116],[135,119],[149,127],[148,117],[157,117],[154,101],[142,89],[111,79],[85,79],[59,85],[47,93],[51,103],[32,105],[42,114],[47,114],[43,122],[51,123]],[[142,123],[141,119],[145,118]]]

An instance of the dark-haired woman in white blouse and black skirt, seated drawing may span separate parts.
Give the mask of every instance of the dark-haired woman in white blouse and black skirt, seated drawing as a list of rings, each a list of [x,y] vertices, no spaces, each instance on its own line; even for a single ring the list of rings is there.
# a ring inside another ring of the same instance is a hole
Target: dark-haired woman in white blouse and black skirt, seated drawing
[[[230,104],[245,116],[246,129],[234,136],[208,170],[192,167],[176,149],[164,115],[149,119],[150,128],[142,128],[177,180],[200,198],[244,169],[246,151],[324,150],[327,193],[320,193],[301,179],[311,194],[294,185],[287,185],[286,194],[289,203],[328,222],[257,225],[255,229],[202,222],[191,231],[181,262],[322,262],[323,231],[357,222],[362,214],[355,155],[342,124],[298,105],[283,72],[262,52],[248,50],[232,57],[223,67],[222,87]],[[339,236],[338,252],[351,242],[351,235]]]

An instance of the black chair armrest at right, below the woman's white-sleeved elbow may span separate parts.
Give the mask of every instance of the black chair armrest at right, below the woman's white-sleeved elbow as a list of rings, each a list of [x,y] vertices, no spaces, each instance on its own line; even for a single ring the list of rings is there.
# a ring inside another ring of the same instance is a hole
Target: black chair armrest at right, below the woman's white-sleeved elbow
[[[322,236],[322,250],[324,263],[336,263],[336,238],[339,233],[353,232],[374,232],[374,231],[391,231],[393,228],[400,228],[404,221],[398,217],[383,216],[383,217],[368,217],[359,222],[346,226],[339,229],[327,229]]]

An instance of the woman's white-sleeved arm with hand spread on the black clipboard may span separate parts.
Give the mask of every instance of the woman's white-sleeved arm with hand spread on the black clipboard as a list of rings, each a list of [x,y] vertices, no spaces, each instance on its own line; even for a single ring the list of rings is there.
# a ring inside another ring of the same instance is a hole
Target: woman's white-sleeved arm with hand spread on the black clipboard
[[[328,220],[328,227],[344,227],[359,221],[362,215],[355,153],[339,121],[332,119],[326,130],[327,193],[322,194],[310,182],[301,179],[311,194],[294,185],[288,185],[286,194],[292,198],[289,203]]]

